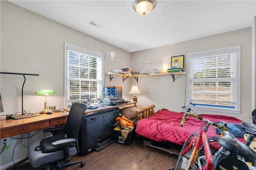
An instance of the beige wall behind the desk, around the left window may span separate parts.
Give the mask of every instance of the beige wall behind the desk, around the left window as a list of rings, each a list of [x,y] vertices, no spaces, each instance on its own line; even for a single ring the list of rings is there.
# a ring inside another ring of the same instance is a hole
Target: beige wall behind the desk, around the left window
[[[37,112],[44,108],[44,96],[36,96],[41,89],[52,89],[55,94],[48,96],[47,105],[64,107],[64,42],[106,54],[104,72],[109,71],[110,52],[116,52],[116,60],[111,61],[111,69],[120,66],[130,67],[130,53],[118,47],[95,39],[89,35],[64,26],[53,20],[16,6],[8,1],[0,1],[1,53],[0,71],[39,74],[26,76],[24,84],[24,109]],[[118,61],[120,60],[120,61]],[[124,64],[123,64],[123,61]],[[22,75],[1,74],[0,90],[4,114],[21,112]],[[109,76],[106,85],[122,86],[124,98],[132,99],[128,94],[130,79],[124,83],[118,78],[111,82]],[[32,132],[31,134],[34,134]],[[33,137],[42,139],[43,133]],[[17,140],[10,139],[8,151],[1,154],[1,170],[12,165],[12,152]],[[27,140],[23,140],[26,145]],[[15,149],[14,160],[26,157],[27,148],[20,144]],[[19,153],[19,154],[17,154]]]

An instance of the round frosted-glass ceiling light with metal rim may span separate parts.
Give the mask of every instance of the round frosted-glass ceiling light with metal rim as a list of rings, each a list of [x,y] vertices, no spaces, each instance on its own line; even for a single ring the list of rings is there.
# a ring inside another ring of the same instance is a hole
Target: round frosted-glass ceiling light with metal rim
[[[136,0],[133,9],[141,16],[148,15],[156,6],[154,0]]]

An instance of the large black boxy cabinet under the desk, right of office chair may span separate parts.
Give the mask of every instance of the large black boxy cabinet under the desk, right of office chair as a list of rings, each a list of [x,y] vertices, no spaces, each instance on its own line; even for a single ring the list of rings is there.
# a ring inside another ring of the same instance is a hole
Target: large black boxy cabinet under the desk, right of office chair
[[[114,124],[118,116],[118,107],[84,115],[78,137],[80,155],[114,143]]]

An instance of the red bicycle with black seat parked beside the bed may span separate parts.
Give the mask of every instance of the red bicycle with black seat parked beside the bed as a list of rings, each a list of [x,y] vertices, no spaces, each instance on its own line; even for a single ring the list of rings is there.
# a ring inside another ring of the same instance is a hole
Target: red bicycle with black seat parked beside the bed
[[[182,127],[188,115],[204,121],[205,126],[202,127],[199,135],[196,132],[190,134],[182,147],[175,170],[248,170],[248,166],[242,161],[243,158],[256,163],[254,150],[229,133],[226,125],[222,126],[189,111],[190,109],[183,115]],[[210,125],[221,128],[223,133],[223,137],[218,139],[220,149],[215,154],[210,148],[206,135]],[[174,170],[174,168],[168,170]]]

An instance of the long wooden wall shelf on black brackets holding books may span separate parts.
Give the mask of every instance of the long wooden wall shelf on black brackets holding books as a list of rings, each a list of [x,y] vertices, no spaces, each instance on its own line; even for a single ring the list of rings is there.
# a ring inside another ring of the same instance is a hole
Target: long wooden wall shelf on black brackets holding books
[[[149,77],[149,76],[167,76],[167,75],[171,75],[173,82],[174,82],[174,76],[175,75],[179,75],[179,74],[186,74],[186,72],[182,71],[182,72],[168,72],[168,73],[158,73],[158,74],[147,74],[147,75],[128,75],[128,74],[122,74],[122,73],[106,73],[106,75],[110,75],[110,82],[112,80],[112,78],[114,78],[115,76],[122,76],[123,77],[123,82],[124,80],[126,80],[126,78],[128,77],[134,77],[138,83],[138,77]]]

